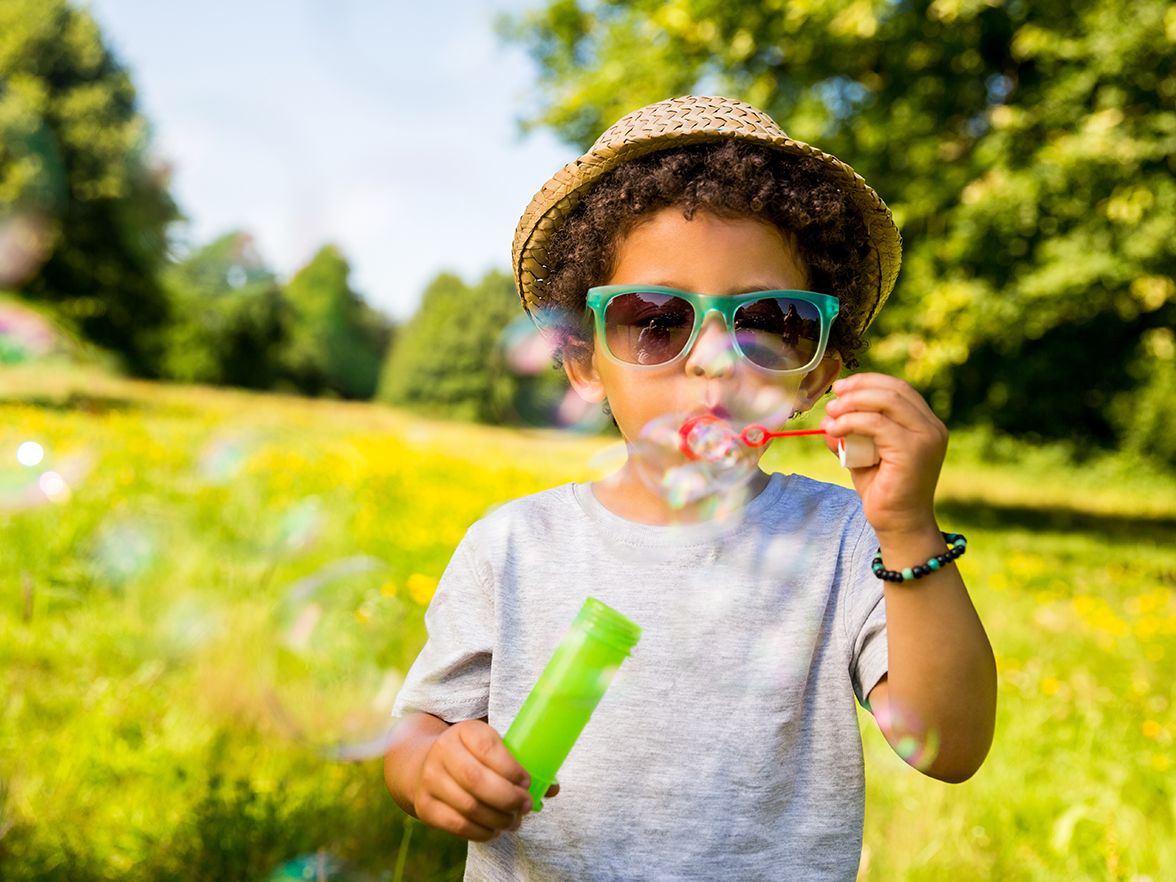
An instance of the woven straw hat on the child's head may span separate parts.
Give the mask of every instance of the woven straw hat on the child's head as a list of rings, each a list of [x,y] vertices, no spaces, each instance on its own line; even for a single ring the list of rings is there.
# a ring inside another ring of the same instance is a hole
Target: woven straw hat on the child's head
[[[763,111],[730,98],[699,95],[659,101],[622,116],[584,155],[556,172],[535,194],[519,221],[512,248],[515,283],[523,308],[530,312],[542,305],[548,243],[601,175],[626,160],[726,138],[813,156],[826,163],[834,179],[844,183],[853,205],[866,219],[875,258],[868,272],[876,286],[870,285],[868,289],[876,289],[877,295],[871,305],[863,305],[864,320],[858,330],[864,330],[894,289],[902,259],[902,238],[886,202],[853,168],[836,156],[789,138]]]

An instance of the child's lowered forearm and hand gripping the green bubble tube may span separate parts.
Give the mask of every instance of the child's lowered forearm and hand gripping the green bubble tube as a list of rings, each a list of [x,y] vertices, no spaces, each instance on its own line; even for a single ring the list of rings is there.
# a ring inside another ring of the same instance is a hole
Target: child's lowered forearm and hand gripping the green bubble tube
[[[485,720],[450,726],[410,714],[396,726],[383,779],[405,811],[476,842],[517,830],[532,809],[530,776]]]

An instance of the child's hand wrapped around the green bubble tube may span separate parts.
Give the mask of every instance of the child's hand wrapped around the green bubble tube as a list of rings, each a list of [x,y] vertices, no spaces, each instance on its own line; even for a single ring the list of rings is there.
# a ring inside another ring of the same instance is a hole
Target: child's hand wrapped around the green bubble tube
[[[416,816],[441,830],[488,842],[517,830],[532,810],[530,776],[502,737],[481,720],[454,723],[421,764],[413,794]],[[559,788],[553,786],[548,795]]]

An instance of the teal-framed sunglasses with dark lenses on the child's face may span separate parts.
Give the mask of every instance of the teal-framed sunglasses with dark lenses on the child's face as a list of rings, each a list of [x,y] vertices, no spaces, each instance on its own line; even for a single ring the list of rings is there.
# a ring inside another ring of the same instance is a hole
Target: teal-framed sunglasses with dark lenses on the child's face
[[[710,313],[722,316],[735,352],[777,374],[813,369],[837,315],[835,296],[810,290],[759,290],[711,296],[654,285],[588,289],[596,336],[623,365],[664,367],[683,358]]]

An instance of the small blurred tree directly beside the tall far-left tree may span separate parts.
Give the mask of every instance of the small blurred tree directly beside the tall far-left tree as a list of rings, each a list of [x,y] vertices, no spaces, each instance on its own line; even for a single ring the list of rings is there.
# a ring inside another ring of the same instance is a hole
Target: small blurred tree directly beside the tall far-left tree
[[[290,309],[248,234],[221,236],[168,267],[163,279],[173,305],[165,376],[254,389],[287,377]]]

